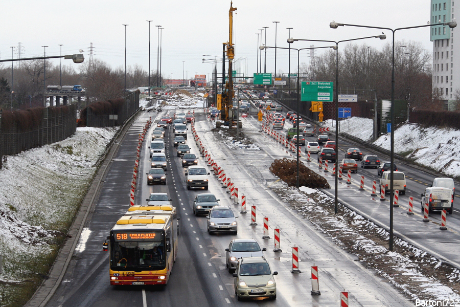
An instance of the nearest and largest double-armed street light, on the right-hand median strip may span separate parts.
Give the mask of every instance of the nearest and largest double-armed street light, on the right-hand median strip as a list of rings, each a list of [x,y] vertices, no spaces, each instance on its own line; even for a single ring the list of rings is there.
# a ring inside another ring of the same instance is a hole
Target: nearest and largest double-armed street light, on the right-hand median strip
[[[332,29],[337,29],[338,27],[343,26],[351,26],[351,27],[359,27],[359,28],[370,28],[370,29],[381,29],[381,30],[389,30],[393,33],[393,42],[392,42],[392,105],[391,105],[391,131],[390,131],[390,216],[389,216],[389,250],[393,251],[393,178],[394,178],[394,163],[395,163],[395,32],[398,30],[407,30],[407,29],[416,29],[416,28],[423,28],[423,27],[432,27],[432,26],[449,26],[450,28],[455,28],[457,26],[456,21],[450,21],[447,23],[439,23],[439,24],[428,24],[422,26],[413,26],[413,27],[405,27],[405,28],[385,28],[385,27],[374,27],[374,26],[362,26],[362,25],[351,25],[351,24],[339,24],[335,21],[329,24],[329,27]]]

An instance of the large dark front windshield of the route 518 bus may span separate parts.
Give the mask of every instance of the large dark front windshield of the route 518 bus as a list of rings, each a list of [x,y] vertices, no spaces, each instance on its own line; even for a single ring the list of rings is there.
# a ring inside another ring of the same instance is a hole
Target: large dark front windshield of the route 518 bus
[[[162,240],[110,243],[110,268],[114,271],[163,270],[165,267],[166,249]]]

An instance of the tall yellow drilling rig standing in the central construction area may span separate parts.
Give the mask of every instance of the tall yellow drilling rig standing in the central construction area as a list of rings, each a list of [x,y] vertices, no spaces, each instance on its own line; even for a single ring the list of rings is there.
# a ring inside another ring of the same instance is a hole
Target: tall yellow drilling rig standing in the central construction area
[[[223,45],[227,47],[227,58],[228,58],[228,78],[227,82],[225,82],[225,89],[222,89],[222,105],[220,111],[220,119],[222,122],[216,122],[216,127],[220,128],[220,126],[228,125],[229,128],[236,126],[237,121],[234,118],[234,113],[238,112],[238,108],[236,111],[233,109],[233,98],[235,97],[235,92],[233,89],[233,58],[235,57],[235,47],[233,45],[233,12],[236,11],[237,8],[233,7],[233,2],[230,2],[230,9],[228,10],[228,19],[229,19],[229,27],[228,27],[228,42],[224,42]],[[241,128],[241,122],[239,123],[239,128]]]

